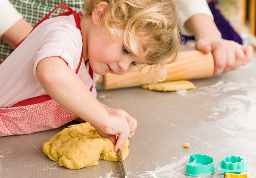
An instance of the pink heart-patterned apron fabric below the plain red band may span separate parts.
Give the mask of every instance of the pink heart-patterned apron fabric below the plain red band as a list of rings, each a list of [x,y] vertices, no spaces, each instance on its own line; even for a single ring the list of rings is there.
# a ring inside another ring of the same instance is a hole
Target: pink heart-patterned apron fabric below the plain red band
[[[0,136],[58,128],[78,117],[53,99],[27,106],[0,107]]]

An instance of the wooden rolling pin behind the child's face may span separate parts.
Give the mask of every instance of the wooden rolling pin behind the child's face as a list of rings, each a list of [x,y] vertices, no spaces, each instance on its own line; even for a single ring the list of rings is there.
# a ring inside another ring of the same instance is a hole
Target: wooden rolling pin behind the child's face
[[[180,58],[176,62],[166,65],[166,68],[167,77],[164,81],[204,78],[213,75],[214,60],[211,52],[205,54],[198,50],[183,51],[180,53]],[[147,79],[154,79],[157,74],[156,70],[149,73],[148,70],[149,66],[147,65],[140,72],[128,72],[123,75],[101,75],[98,83],[101,83],[103,89],[140,86],[146,84],[146,77]]]

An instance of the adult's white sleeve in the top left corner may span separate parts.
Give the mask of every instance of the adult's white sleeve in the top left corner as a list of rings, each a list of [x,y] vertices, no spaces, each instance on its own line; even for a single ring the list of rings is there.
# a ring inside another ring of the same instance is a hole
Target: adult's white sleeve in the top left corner
[[[9,0],[0,0],[0,37],[21,18]]]

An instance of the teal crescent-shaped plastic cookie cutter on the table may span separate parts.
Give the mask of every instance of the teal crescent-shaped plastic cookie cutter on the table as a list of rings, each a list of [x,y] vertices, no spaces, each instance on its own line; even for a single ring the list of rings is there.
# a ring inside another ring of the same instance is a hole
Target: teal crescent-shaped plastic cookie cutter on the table
[[[192,154],[186,166],[186,175],[205,176],[215,171],[213,158],[203,154]]]

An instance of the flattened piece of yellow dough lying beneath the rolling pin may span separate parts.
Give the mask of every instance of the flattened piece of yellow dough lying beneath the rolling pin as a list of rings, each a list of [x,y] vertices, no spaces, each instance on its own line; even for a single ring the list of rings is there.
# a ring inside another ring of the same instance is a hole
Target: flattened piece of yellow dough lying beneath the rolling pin
[[[143,89],[151,89],[155,91],[179,91],[185,89],[196,89],[195,85],[187,80],[168,81],[163,83],[142,85]]]

